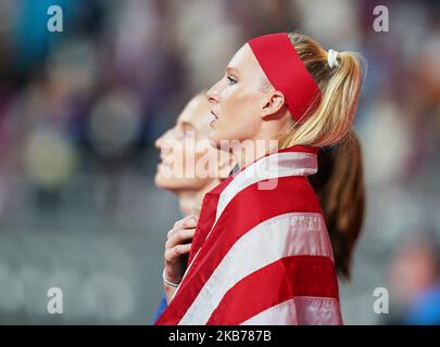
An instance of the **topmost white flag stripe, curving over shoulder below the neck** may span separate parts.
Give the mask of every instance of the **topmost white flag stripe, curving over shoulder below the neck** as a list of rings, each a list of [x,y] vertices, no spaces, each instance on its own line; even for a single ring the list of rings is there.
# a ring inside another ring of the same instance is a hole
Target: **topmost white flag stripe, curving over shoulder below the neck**
[[[317,156],[313,153],[281,152],[262,157],[238,174],[222,192],[218,198],[215,222],[229,202],[247,187],[262,180],[289,176],[306,176],[316,174],[316,171]],[[267,189],[271,188],[275,189],[276,187],[267,185]]]

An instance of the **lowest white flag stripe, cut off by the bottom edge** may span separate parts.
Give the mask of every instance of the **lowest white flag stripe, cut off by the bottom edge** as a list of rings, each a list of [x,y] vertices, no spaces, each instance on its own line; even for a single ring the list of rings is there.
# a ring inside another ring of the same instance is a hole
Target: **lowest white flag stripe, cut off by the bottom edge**
[[[248,319],[242,325],[341,325],[335,298],[297,296]]]

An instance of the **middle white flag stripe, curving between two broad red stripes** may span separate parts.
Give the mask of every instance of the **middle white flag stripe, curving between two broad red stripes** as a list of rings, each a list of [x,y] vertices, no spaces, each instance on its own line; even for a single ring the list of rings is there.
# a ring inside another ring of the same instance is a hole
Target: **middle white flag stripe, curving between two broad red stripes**
[[[241,279],[287,256],[315,255],[332,259],[320,214],[289,213],[248,231],[213,271],[179,324],[205,324],[224,295]]]

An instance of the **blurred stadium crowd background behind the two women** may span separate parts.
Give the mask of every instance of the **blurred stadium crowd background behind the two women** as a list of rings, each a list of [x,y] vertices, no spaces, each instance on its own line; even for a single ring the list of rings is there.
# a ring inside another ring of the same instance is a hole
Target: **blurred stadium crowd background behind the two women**
[[[49,33],[59,4],[64,31]],[[375,5],[389,33],[373,28]],[[347,324],[403,322],[439,281],[440,5],[372,0],[0,0],[0,323],[149,324],[177,200],[154,140],[249,38],[361,52],[367,215]],[[429,252],[431,249],[431,252]],[[64,313],[47,312],[63,290]],[[387,287],[390,313],[373,292]]]

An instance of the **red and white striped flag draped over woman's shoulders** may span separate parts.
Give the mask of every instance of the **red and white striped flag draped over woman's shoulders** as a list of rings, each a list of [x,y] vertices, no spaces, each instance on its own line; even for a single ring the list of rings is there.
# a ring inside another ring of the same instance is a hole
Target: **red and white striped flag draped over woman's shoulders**
[[[306,176],[317,149],[264,156],[209,192],[156,324],[342,324],[331,244]]]

